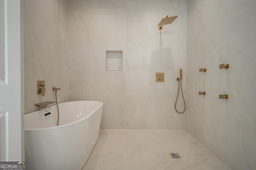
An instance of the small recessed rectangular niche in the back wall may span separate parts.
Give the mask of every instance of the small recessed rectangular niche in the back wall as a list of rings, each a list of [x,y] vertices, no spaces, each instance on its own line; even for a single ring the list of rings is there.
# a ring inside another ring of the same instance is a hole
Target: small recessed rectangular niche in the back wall
[[[106,70],[123,70],[122,51],[106,51]]]

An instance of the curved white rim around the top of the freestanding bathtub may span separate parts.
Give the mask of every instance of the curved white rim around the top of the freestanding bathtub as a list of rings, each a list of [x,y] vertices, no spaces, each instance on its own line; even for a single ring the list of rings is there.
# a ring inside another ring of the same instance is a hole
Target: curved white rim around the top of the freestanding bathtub
[[[84,117],[83,119],[81,120],[78,120],[78,121],[74,121],[72,123],[67,123],[67,124],[64,124],[64,125],[59,125],[59,126],[53,126],[53,127],[45,127],[45,128],[36,128],[36,129],[24,129],[24,131],[36,131],[36,130],[47,130],[47,129],[54,129],[54,128],[57,128],[57,127],[63,127],[63,126],[66,126],[66,125],[71,125],[71,124],[74,124],[74,123],[78,123],[80,121],[83,121],[85,119],[87,119],[88,117],[90,117],[97,109],[99,109],[101,106],[103,106],[103,102],[100,102],[100,101],[96,101],[96,100],[77,100],[77,101],[70,101],[70,102],[63,102],[63,103],[60,103],[60,104],[64,104],[64,103],[72,103],[72,102],[99,102],[100,103],[100,106],[96,107],[96,109],[94,109],[88,116]],[[58,105],[60,105],[58,104]],[[52,106],[56,106],[55,105],[52,105]],[[50,107],[52,107],[50,106]],[[45,108],[45,109],[48,109],[49,107]],[[43,109],[42,109],[43,110]],[[37,110],[38,111],[38,110]],[[33,112],[36,112],[36,111],[33,111]],[[30,112],[30,113],[33,113],[33,112]],[[27,113],[27,114],[30,114],[30,113]],[[27,115],[25,114],[25,115]],[[24,117],[25,119],[25,117]]]

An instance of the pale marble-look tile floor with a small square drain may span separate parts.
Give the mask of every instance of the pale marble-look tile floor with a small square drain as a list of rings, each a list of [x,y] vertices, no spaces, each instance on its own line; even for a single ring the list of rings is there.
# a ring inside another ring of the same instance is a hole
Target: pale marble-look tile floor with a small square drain
[[[231,169],[184,130],[102,129],[82,170]]]

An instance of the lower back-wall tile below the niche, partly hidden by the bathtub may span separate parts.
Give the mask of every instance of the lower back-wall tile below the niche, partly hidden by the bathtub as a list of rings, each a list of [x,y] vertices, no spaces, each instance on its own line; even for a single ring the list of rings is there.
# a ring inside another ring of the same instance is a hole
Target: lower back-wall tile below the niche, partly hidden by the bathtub
[[[70,71],[70,100],[104,103],[102,129],[124,129],[125,72]]]

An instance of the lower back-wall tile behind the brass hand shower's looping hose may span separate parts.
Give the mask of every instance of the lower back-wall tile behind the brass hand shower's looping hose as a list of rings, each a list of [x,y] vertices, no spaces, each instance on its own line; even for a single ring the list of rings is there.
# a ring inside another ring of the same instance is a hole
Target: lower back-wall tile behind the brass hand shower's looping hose
[[[175,75],[165,72],[165,82],[155,82],[155,76],[150,71],[127,71],[126,129],[184,129],[184,114],[174,110],[178,93]],[[178,106],[182,102],[179,98]]]

